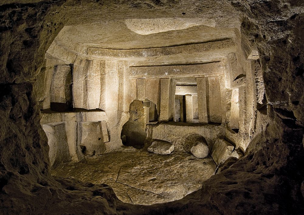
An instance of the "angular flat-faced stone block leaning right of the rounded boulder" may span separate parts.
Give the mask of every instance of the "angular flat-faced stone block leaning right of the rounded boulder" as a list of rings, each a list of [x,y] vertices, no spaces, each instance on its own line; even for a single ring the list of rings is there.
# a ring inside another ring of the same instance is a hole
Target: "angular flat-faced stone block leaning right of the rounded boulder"
[[[217,139],[211,150],[213,160],[219,165],[230,157],[234,146],[224,139]]]

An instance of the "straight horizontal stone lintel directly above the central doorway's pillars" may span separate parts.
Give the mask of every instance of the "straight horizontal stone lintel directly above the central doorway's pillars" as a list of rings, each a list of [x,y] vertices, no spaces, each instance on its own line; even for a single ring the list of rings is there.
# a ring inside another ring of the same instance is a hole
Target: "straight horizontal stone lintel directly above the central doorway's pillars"
[[[180,76],[214,76],[222,75],[223,68],[219,61],[188,65],[157,65],[130,67],[131,78],[142,77],[180,77]]]

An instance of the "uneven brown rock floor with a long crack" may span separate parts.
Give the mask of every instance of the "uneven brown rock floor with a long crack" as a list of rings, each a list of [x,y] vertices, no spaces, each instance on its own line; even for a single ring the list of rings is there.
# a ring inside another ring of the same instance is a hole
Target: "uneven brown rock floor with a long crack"
[[[58,166],[51,173],[107,184],[123,202],[150,205],[181,199],[200,189],[215,169],[210,155],[200,159],[186,152],[161,155],[137,150],[86,157]]]

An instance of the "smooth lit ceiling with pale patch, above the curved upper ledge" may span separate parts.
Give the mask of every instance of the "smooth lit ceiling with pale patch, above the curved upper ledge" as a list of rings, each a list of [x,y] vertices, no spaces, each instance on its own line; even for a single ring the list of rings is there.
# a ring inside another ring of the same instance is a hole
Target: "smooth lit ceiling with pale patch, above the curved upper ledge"
[[[171,28],[168,28],[168,31],[165,32],[157,32],[160,29],[156,29],[164,25],[164,23],[162,23],[164,19],[157,19],[157,21],[150,20],[149,25],[141,26],[141,28],[139,26],[135,26],[135,24],[133,26],[130,26],[130,23],[126,24],[128,20],[114,20],[109,22],[65,26],[58,34],[55,41],[68,49],[82,52],[81,49],[87,47],[111,49],[168,47],[219,40],[234,36],[233,29],[223,30],[206,25],[186,28],[184,20],[177,20],[177,23],[180,23],[180,25],[175,23],[176,26],[173,26],[175,29],[172,29],[173,27],[171,26]],[[147,22],[147,19],[144,21]],[[155,27],[155,25],[157,25],[157,27]],[[164,28],[165,27],[166,26],[164,26]],[[141,34],[147,32],[149,34]]]

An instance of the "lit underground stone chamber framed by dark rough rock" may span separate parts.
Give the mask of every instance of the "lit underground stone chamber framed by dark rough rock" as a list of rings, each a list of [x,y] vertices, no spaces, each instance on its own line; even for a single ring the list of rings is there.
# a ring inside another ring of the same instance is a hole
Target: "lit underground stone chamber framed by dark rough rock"
[[[113,24],[125,28],[122,21]],[[125,31],[132,32],[130,25]],[[199,31],[177,26],[161,33]],[[226,160],[231,166],[232,158],[244,155],[249,133],[256,132],[253,103],[264,93],[263,78],[255,73],[259,56],[244,53],[236,32],[198,26],[216,32],[217,39],[147,47],[138,36],[130,40],[140,48],[115,49],[90,45],[95,29],[63,27],[34,83],[52,175],[107,183],[123,202],[150,205],[198,190],[225,169]],[[75,31],[79,47],[68,40]],[[151,39],[154,34],[145,33]],[[104,175],[106,168],[113,172]]]

